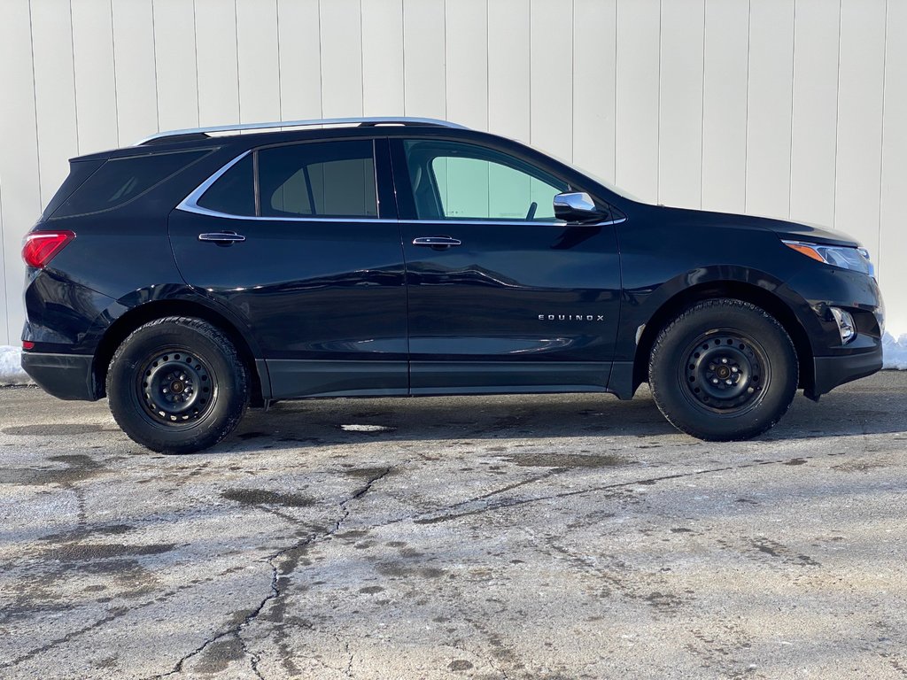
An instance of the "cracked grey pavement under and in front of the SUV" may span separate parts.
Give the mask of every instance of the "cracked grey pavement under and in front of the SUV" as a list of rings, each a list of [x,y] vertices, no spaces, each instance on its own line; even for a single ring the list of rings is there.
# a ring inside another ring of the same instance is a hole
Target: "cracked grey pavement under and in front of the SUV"
[[[0,677],[903,678],[905,452],[893,372],[752,442],[642,389],[279,403],[181,457],[5,388]]]

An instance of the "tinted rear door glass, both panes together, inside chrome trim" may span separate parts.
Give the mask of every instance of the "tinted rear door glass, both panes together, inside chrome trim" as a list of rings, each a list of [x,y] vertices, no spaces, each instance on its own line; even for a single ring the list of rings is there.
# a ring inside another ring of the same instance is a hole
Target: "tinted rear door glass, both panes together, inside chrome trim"
[[[196,202],[238,217],[376,218],[374,154],[371,140],[259,149],[236,161]]]

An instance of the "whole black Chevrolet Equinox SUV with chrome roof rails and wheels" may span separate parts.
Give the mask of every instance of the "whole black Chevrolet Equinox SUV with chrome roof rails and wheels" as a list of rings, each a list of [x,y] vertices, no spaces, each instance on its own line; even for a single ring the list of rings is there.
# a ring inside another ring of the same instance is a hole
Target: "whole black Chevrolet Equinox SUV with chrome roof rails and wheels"
[[[249,403],[645,382],[680,430],[737,440],[798,387],[882,366],[853,239],[647,205],[444,121],[173,131],[76,158],[23,255],[25,370],[106,395],[158,452],[219,442]]]

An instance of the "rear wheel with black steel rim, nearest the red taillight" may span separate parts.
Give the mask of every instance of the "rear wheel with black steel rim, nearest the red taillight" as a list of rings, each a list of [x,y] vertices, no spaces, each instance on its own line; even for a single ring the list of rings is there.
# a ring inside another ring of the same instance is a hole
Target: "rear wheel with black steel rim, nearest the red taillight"
[[[160,453],[197,452],[226,437],[246,412],[248,384],[229,338],[183,316],[134,330],[107,371],[113,419],[133,442]]]

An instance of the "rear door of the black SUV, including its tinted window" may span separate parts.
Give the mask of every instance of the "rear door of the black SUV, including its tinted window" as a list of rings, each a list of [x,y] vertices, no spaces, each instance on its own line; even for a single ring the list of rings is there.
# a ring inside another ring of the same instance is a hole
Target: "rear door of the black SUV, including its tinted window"
[[[274,398],[407,391],[389,167],[384,139],[262,147],[171,213],[182,276],[249,326]]]

